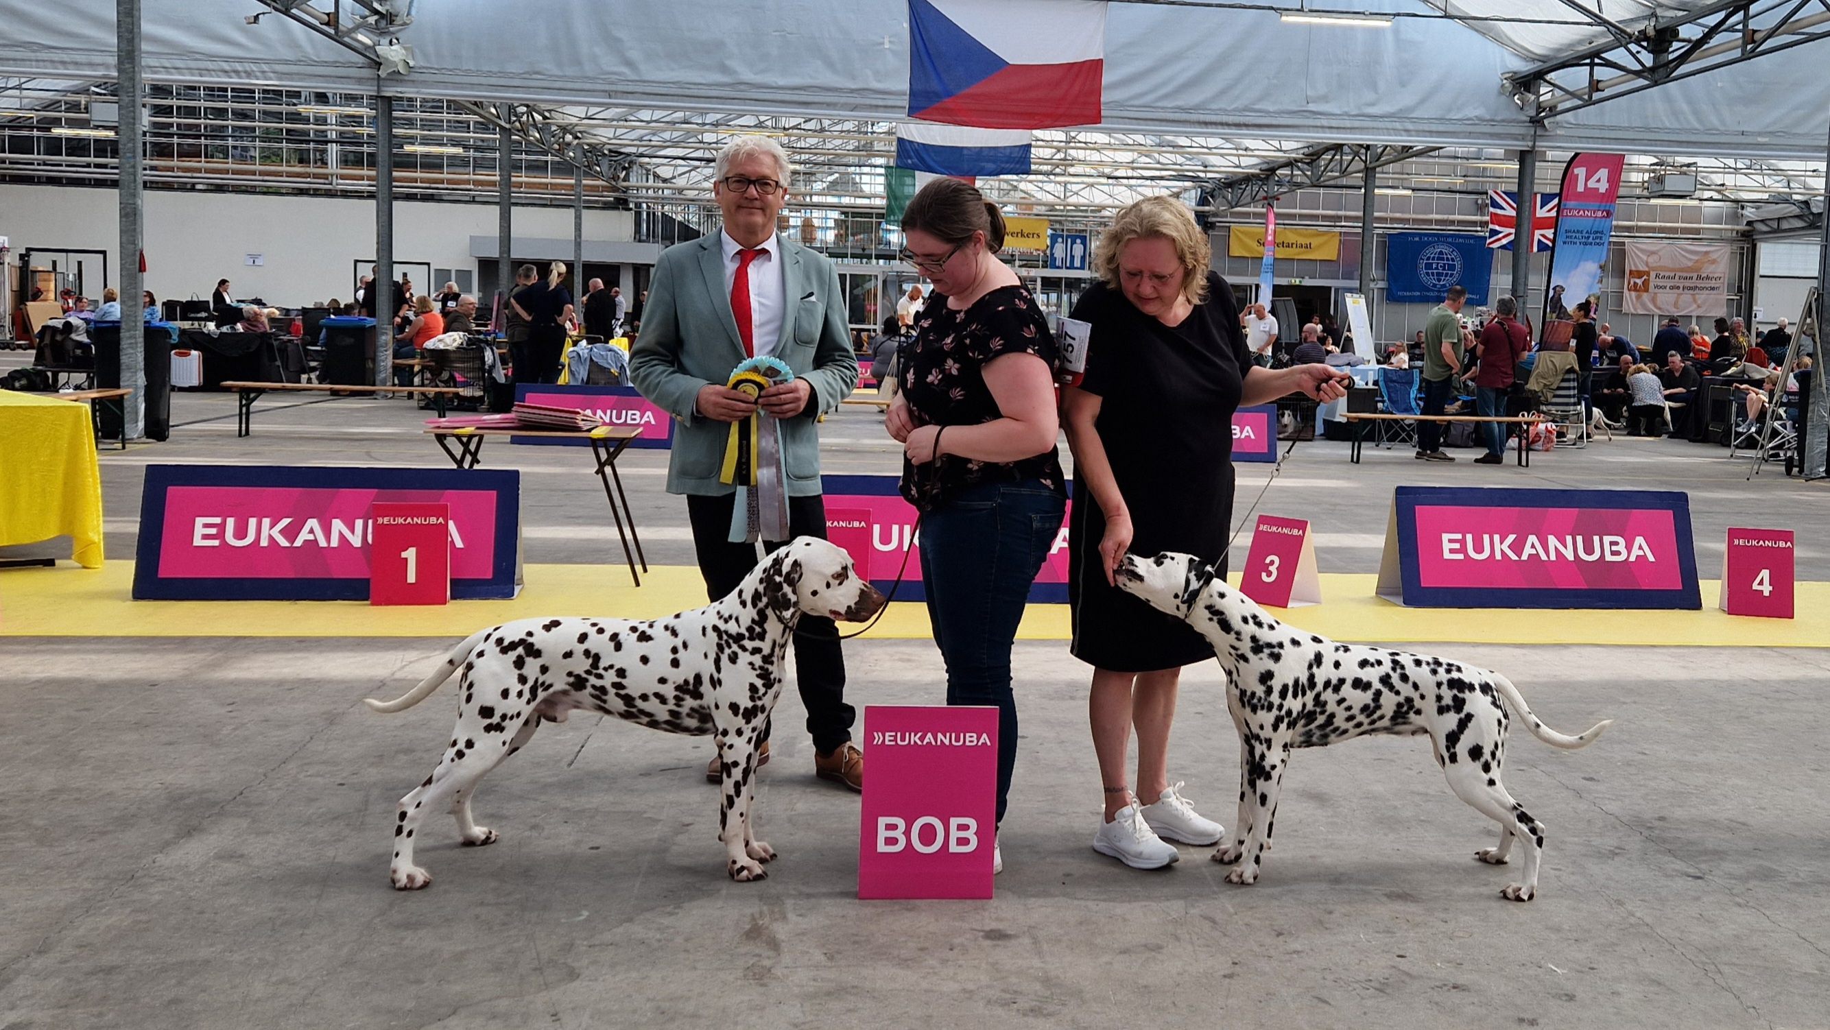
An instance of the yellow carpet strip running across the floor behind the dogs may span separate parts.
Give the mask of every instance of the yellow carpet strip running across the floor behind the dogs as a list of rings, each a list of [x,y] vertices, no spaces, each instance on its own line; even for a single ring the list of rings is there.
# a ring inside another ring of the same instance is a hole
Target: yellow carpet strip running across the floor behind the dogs
[[[705,602],[699,573],[657,565],[635,589],[624,565],[527,565],[514,600],[445,607],[366,602],[135,602],[134,563],[102,569],[0,571],[0,637],[465,637],[483,626],[547,615],[655,618]],[[1830,622],[1731,617],[1704,580],[1702,611],[1402,607],[1372,596],[1376,576],[1325,573],[1323,604],[1277,611],[1285,622],[1347,642],[1389,644],[1612,644],[1709,648],[1830,648]],[[1830,584],[1799,584],[1797,609],[1830,607]],[[847,626],[853,631],[856,626]],[[1069,611],[1032,604],[1017,637],[1067,640]],[[897,602],[866,637],[928,640],[928,611]]]

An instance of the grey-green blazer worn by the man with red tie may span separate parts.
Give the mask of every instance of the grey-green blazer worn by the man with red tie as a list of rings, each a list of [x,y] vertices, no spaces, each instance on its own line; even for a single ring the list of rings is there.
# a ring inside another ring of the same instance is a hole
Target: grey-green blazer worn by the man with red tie
[[[723,386],[743,362],[743,337],[730,313],[719,232],[661,252],[648,284],[642,331],[630,348],[630,381],[673,415],[670,494],[728,494],[717,481],[730,423],[699,415],[694,401],[706,382]],[[813,386],[798,417],[781,421],[789,496],[820,492],[820,434],[814,419],[838,410],[858,386],[858,359],[845,327],[845,295],[825,254],[776,238],[781,247],[781,340],[770,351]]]

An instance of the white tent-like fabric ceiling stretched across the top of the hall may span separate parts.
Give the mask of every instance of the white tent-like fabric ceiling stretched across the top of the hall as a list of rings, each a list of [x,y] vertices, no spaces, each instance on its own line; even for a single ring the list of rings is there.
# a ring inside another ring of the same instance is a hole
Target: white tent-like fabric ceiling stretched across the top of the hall
[[[328,0],[324,0],[328,2]],[[1288,24],[1281,11],[1116,2],[1107,18],[1113,132],[1318,143],[1415,143],[1823,157],[1830,42],[1762,57],[1552,119],[1534,134],[1501,75],[1607,38],[1618,24],[1706,0],[1338,0],[1398,15],[1387,27]],[[145,0],[154,80],[443,95],[586,106],[833,115],[906,112],[904,0],[527,5],[417,4],[399,42],[408,75],[377,82],[359,55],[253,0]],[[1448,15],[1448,16],[1446,16]],[[1464,24],[1455,18],[1469,18]],[[44,46],[40,40],[57,40]],[[15,5],[0,75],[112,79],[113,22]]]

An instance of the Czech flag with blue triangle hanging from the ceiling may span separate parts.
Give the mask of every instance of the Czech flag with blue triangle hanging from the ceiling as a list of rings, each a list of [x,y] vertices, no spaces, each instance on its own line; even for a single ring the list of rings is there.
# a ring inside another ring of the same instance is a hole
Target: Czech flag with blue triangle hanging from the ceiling
[[[1103,79],[1103,0],[910,0],[910,117],[1098,124]]]

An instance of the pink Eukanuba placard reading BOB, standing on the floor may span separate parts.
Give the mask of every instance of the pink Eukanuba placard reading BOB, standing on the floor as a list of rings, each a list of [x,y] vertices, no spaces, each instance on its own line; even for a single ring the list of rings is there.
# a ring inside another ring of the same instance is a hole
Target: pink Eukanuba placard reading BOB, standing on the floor
[[[864,708],[860,898],[990,898],[997,708]]]

